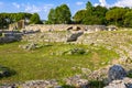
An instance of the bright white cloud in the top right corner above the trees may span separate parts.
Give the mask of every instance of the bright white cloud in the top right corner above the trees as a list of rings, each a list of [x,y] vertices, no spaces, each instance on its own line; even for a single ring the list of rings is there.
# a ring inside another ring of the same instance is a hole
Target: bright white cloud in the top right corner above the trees
[[[113,6],[132,8],[132,0],[118,0]]]

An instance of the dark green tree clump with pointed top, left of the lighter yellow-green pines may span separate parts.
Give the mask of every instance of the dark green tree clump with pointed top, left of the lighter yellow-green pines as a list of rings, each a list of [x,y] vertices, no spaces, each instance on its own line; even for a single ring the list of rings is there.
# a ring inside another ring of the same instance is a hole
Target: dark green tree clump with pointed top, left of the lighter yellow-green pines
[[[106,12],[107,8],[97,6],[94,7],[89,1],[86,3],[86,10],[79,10],[74,15],[75,23],[81,24],[107,24]]]

